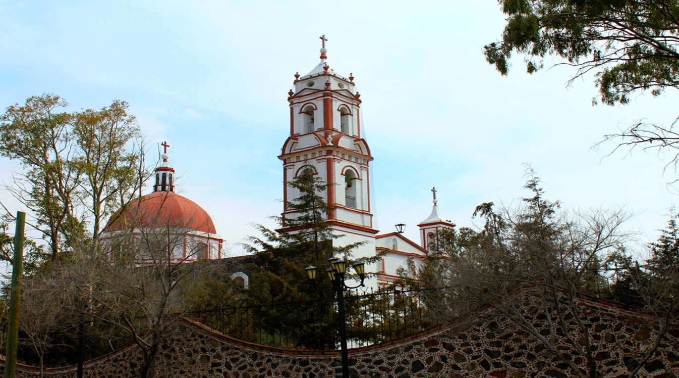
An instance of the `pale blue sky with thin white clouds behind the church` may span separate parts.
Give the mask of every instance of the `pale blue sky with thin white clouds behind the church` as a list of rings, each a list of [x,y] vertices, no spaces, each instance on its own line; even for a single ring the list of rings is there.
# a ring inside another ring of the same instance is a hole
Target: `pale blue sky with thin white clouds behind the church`
[[[458,226],[481,226],[480,203],[511,205],[525,165],[547,198],[569,209],[624,207],[648,243],[677,203],[669,154],[607,155],[593,145],[636,121],[669,125],[679,93],[639,93],[626,106],[592,105],[593,76],[548,57],[528,75],[516,56],[507,77],[483,58],[500,39],[496,0],[475,1],[15,1],[0,0],[0,107],[56,93],[70,110],[124,100],[155,153],[170,144],[179,192],[210,215],[230,253],[274,227],[293,75],[318,64],[353,73],[371,148],[373,215],[380,232],[439,209]],[[7,182],[12,161],[0,159]],[[151,185],[147,186],[147,192]],[[0,191],[12,211],[22,210]]]

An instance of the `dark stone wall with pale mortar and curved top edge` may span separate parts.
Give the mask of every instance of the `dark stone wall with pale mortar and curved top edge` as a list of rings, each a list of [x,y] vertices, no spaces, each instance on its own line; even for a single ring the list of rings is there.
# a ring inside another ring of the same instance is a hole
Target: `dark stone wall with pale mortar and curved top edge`
[[[530,302],[530,296],[524,298]],[[583,320],[592,333],[592,348],[603,377],[627,377],[654,340],[651,318],[612,303],[581,301]],[[546,329],[537,314],[534,324]],[[156,377],[337,377],[338,352],[303,352],[253,345],[225,337],[185,320],[181,332],[167,339],[156,365]],[[576,332],[574,332],[576,333]],[[547,334],[547,333],[545,333]],[[580,337],[576,333],[577,337]],[[564,337],[558,350],[568,353]],[[638,377],[679,377],[679,328],[662,339]],[[526,331],[492,311],[415,337],[349,351],[355,377],[571,377],[568,365]],[[585,366],[583,358],[573,358]],[[86,363],[85,377],[134,377],[141,357],[134,347]],[[18,377],[39,377],[39,370],[19,366]],[[75,366],[47,369],[45,377],[75,378]]]

